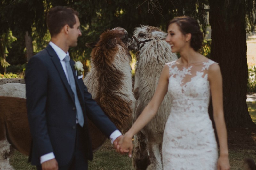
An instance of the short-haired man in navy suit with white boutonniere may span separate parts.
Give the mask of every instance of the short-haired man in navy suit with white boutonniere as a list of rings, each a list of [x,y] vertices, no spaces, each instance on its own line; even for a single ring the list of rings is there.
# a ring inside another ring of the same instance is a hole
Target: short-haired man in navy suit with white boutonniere
[[[51,42],[30,59],[25,72],[31,163],[43,170],[84,170],[92,160],[87,117],[112,143],[123,136],[92,99],[69,57],[69,47],[82,35],[78,12],[51,8],[47,26]]]

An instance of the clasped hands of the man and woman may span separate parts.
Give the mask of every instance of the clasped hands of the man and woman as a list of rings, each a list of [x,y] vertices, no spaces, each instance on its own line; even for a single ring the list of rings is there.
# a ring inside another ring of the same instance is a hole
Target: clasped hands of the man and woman
[[[116,138],[116,140],[113,142],[114,149],[117,153],[125,154],[128,153],[128,156],[132,158],[132,137],[128,137],[128,135],[120,135]]]

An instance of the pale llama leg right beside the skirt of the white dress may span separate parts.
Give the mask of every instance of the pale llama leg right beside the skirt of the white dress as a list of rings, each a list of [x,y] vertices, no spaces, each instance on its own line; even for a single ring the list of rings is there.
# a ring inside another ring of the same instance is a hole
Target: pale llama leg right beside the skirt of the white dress
[[[161,156],[161,143],[150,142],[148,143],[149,147],[149,159],[150,165],[147,170],[162,170],[162,156]]]

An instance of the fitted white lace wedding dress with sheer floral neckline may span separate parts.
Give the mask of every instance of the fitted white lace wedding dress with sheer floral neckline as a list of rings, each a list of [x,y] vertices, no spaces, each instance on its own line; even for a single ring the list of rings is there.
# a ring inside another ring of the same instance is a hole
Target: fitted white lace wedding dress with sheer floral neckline
[[[208,69],[214,63],[209,60],[189,67],[167,63],[172,110],[164,130],[164,170],[217,169],[217,143],[208,115]]]

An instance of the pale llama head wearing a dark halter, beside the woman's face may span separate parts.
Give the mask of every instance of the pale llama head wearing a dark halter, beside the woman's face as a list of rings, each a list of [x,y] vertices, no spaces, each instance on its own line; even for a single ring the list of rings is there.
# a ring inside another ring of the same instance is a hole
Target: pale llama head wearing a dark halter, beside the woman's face
[[[137,50],[143,46],[143,41],[150,41],[151,39],[165,40],[166,36],[167,33],[158,27],[141,25],[135,28],[133,37],[129,38],[128,48],[129,50]]]

